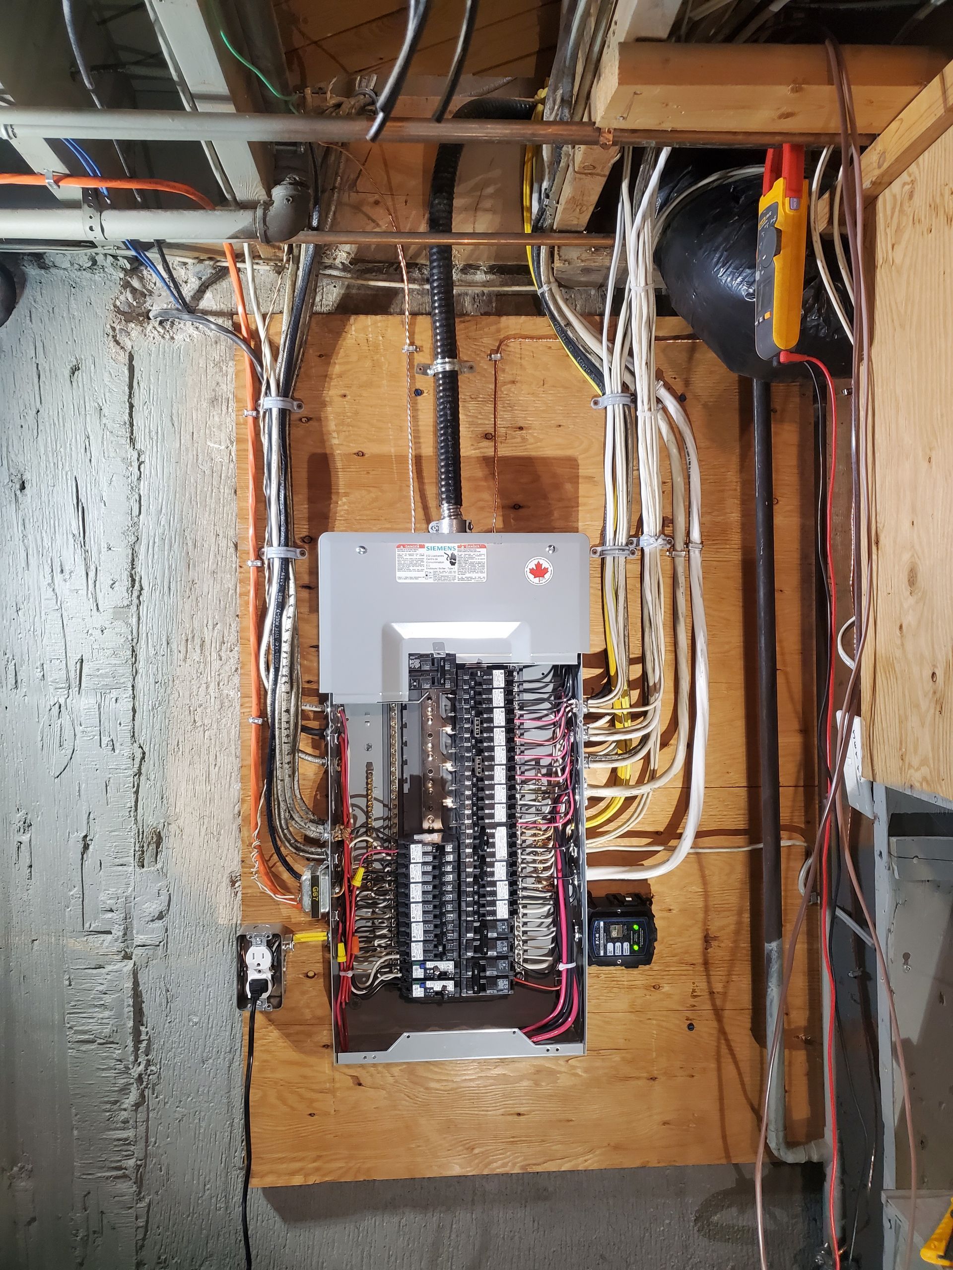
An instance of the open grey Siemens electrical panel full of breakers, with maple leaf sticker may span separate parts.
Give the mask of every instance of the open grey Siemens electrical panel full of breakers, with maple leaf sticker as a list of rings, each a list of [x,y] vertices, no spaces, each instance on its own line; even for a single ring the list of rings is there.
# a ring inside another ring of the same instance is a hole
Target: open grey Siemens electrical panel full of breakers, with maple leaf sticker
[[[338,1063],[582,1054],[581,533],[325,533]]]

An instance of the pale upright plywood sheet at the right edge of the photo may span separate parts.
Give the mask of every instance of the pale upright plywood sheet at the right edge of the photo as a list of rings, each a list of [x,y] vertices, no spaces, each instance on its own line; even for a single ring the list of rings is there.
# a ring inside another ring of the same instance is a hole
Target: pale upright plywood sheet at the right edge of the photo
[[[953,132],[877,199],[864,761],[953,798]]]

